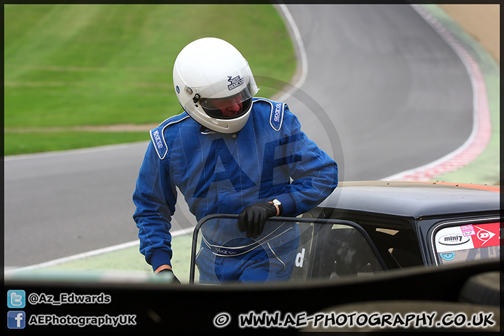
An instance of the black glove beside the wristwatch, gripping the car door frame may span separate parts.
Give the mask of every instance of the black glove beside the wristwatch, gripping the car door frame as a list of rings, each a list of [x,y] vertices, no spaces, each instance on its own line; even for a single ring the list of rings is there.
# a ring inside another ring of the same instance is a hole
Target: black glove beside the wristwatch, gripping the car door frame
[[[272,203],[249,205],[240,212],[237,226],[241,232],[246,231],[247,238],[257,238],[268,218],[273,216],[276,216],[276,207]]]

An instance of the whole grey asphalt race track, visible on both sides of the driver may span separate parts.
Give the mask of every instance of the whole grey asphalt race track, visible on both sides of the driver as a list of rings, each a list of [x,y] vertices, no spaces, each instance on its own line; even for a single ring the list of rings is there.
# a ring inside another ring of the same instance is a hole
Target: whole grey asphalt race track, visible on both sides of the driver
[[[382,179],[432,162],[469,137],[468,73],[411,6],[288,11],[306,62],[286,102],[337,160],[340,179]],[[6,268],[137,239],[131,196],[146,146],[6,157]],[[195,224],[184,205],[174,230]]]

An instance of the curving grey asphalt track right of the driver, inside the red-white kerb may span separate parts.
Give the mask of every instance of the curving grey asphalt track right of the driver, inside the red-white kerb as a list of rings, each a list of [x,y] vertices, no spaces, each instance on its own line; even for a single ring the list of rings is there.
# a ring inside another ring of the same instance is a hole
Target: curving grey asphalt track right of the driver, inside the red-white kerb
[[[335,153],[340,179],[376,180],[419,167],[469,137],[468,73],[411,6],[288,9],[307,53],[301,90],[323,111],[314,106],[304,113],[304,106],[288,103],[311,139]],[[321,132],[327,118],[337,134]]]

